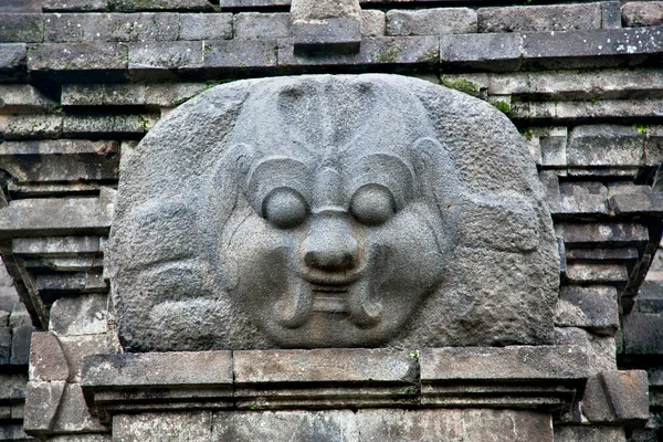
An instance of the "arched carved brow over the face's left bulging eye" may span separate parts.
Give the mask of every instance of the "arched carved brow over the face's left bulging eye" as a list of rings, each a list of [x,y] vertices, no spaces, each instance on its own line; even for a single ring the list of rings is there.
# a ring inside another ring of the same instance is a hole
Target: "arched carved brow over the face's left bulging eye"
[[[262,157],[253,162],[246,176],[246,198],[257,213],[262,212],[265,197],[280,187],[294,189],[311,201],[312,177],[311,168],[299,160],[285,156]]]

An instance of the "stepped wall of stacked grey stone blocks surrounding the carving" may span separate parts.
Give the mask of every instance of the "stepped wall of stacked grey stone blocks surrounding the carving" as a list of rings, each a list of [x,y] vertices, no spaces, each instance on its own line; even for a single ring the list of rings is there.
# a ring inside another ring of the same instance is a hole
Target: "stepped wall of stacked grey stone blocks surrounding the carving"
[[[296,50],[286,0],[0,6],[0,250],[41,327],[28,389],[33,406],[49,404],[28,410],[29,432],[110,438],[107,422],[85,406],[81,360],[120,350],[107,307],[105,243],[118,175],[155,124],[232,80],[387,72],[483,98],[516,124],[546,188],[562,256],[556,344],[586,348],[588,376],[603,376],[603,385],[611,378],[600,373],[617,372],[618,364],[649,372],[646,428],[633,430],[643,424],[638,407],[614,412],[629,398],[617,389],[607,400],[612,408],[582,412],[577,401],[557,417],[555,441],[655,440],[663,290],[643,280],[663,217],[655,186],[663,162],[663,2],[526,3],[367,0],[359,52],[313,55]],[[31,323],[1,291],[0,368],[10,375],[0,375],[0,435],[21,440],[28,370],[20,355]],[[10,338],[12,351],[3,351]],[[260,414],[252,419],[260,424]],[[118,428],[139,425],[125,423]]]

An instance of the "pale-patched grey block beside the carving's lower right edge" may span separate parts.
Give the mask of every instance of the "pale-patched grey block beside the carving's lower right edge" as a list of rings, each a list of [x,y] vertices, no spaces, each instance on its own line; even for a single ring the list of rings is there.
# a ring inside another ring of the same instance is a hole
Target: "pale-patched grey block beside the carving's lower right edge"
[[[612,286],[562,286],[555,325],[582,327],[614,336],[619,328],[617,288]]]

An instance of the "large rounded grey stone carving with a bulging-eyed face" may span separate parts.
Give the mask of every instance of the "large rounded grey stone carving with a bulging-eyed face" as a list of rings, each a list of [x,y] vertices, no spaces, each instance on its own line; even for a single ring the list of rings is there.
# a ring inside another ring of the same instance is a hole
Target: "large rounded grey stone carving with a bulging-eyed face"
[[[397,75],[241,81],[127,154],[109,269],[129,351],[551,339],[551,219],[484,102]]]

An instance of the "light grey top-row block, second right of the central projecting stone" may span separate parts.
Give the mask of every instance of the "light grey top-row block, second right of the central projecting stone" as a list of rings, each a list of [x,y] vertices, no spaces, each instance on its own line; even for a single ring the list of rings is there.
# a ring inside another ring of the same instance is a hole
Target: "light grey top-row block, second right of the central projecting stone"
[[[476,32],[476,12],[470,8],[438,8],[387,12],[387,35],[469,34]]]

